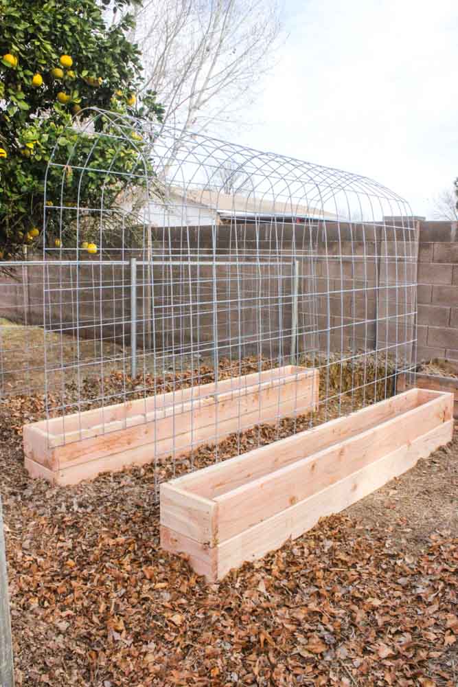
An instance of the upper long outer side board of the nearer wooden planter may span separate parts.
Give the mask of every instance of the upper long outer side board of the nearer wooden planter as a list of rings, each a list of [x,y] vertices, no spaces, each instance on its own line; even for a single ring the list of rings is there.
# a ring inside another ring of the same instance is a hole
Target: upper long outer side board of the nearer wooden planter
[[[441,394],[406,414],[215,497],[220,543],[310,497],[452,418]],[[275,450],[275,444],[272,444]]]

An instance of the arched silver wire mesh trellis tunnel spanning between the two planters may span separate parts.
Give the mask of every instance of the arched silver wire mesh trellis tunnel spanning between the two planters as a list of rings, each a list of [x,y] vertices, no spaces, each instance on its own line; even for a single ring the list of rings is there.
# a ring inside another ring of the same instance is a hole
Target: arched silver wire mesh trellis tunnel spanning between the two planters
[[[141,463],[159,484],[415,367],[415,218],[355,174],[93,110],[49,162],[43,260],[62,482]]]

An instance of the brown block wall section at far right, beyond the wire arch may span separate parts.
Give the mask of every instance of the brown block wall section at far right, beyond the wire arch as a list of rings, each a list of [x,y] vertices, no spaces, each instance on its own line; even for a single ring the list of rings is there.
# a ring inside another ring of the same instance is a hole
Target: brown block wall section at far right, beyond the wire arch
[[[417,359],[458,360],[458,222],[420,225]]]

